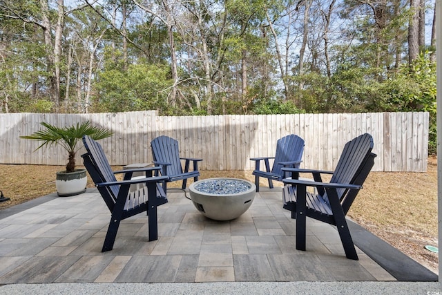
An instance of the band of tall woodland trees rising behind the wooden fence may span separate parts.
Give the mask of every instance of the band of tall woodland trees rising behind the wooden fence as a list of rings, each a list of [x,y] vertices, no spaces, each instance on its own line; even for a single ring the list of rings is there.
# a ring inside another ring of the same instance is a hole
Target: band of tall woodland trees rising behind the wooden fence
[[[0,2],[1,111],[378,111],[408,97],[394,75],[405,0],[83,3]]]

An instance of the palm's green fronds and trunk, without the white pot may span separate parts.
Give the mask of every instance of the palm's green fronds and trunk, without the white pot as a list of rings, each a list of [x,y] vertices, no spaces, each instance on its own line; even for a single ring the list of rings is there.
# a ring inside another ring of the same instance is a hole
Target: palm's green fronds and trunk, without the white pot
[[[20,136],[26,140],[38,140],[41,141],[41,145],[37,149],[41,149],[43,146],[50,148],[51,146],[59,145],[68,152],[69,162],[66,165],[66,172],[73,172],[75,169],[75,153],[81,147],[77,147],[79,141],[83,135],[89,135],[94,140],[101,140],[103,138],[113,135],[112,131],[106,128],[100,128],[92,126],[89,121],[81,124],[77,123],[73,126],[58,127],[46,122],[41,122],[44,126],[43,130],[36,131],[32,135]]]

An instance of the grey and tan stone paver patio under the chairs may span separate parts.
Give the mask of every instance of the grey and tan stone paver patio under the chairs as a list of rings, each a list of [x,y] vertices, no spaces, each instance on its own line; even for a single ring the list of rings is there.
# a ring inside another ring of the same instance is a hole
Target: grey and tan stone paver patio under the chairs
[[[296,250],[296,220],[282,209],[280,188],[262,188],[249,210],[230,222],[205,218],[182,191],[169,191],[168,199],[158,207],[158,240],[148,242],[140,213],[122,222],[106,253],[110,213],[95,189],[0,211],[0,284],[437,280],[357,225],[358,261],[345,258],[334,227],[311,219],[307,251]]]

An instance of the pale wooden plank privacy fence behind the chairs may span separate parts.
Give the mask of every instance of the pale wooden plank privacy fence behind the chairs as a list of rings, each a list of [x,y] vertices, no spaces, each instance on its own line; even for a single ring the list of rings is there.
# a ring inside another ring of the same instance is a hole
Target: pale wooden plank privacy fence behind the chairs
[[[38,142],[23,140],[40,122],[69,126],[89,120],[111,129],[100,140],[112,165],[152,161],[150,142],[169,135],[182,157],[202,158],[202,170],[253,170],[249,158],[272,156],[278,138],[290,133],[305,140],[303,167],[333,170],[343,145],[362,133],[374,137],[378,155],[373,171],[427,170],[428,113],[357,113],[291,115],[213,115],[162,117],[157,111],[94,114],[0,114],[0,163],[64,165],[66,151],[34,151]],[[84,153],[83,144],[77,164]]]

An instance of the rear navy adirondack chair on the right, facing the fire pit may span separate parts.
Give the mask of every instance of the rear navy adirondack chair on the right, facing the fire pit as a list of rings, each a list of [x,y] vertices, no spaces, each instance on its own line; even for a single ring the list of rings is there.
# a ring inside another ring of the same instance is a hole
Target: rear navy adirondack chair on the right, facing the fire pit
[[[276,142],[276,154],[274,157],[260,157],[251,158],[255,161],[255,185],[256,191],[260,191],[259,178],[267,178],[269,180],[269,188],[273,189],[272,180],[282,181],[284,178],[283,167],[299,168],[300,162],[302,162],[302,154],[304,153],[304,140],[298,135],[287,135],[282,137]],[[269,159],[273,160],[273,166],[270,170]],[[265,171],[260,170],[260,162],[264,161]]]

